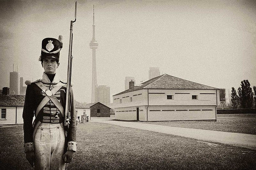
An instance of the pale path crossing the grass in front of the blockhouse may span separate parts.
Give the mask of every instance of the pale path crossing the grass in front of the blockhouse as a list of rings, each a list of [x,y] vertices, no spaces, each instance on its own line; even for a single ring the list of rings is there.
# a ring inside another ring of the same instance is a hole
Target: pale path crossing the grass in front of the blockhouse
[[[256,135],[94,118],[91,121],[256,149]]]

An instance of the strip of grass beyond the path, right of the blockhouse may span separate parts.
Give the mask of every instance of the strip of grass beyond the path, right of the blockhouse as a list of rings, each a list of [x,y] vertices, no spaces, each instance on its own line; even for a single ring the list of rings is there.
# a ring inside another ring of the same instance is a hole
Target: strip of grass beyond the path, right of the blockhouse
[[[141,122],[142,123],[142,122]],[[212,121],[162,121],[143,122],[164,126],[226,131],[256,135],[256,114],[219,114],[217,122]]]

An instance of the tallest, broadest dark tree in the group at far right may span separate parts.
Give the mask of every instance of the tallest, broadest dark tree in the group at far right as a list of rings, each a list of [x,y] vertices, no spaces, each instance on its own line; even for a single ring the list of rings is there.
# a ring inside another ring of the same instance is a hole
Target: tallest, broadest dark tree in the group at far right
[[[241,102],[241,108],[250,109],[253,106],[253,92],[252,92],[252,88],[250,87],[251,85],[248,80],[241,81],[240,85],[241,85],[241,96],[239,96],[239,98]]]

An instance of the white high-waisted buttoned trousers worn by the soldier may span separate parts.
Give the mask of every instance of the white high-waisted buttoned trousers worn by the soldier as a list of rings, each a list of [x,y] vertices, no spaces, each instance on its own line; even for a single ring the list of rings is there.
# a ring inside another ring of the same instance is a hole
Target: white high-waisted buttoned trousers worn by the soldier
[[[60,124],[41,123],[35,134],[35,169],[64,170],[65,131]]]

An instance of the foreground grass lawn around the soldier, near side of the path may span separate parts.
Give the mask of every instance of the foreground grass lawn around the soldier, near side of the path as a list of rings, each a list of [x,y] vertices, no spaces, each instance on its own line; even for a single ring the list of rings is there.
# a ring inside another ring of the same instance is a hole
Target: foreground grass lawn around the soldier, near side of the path
[[[216,122],[215,122],[216,123]],[[32,169],[22,126],[0,128],[0,169]],[[256,150],[88,122],[78,124],[78,150],[66,169],[254,169]]]

